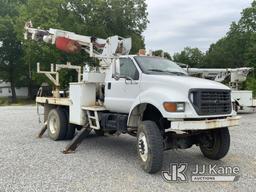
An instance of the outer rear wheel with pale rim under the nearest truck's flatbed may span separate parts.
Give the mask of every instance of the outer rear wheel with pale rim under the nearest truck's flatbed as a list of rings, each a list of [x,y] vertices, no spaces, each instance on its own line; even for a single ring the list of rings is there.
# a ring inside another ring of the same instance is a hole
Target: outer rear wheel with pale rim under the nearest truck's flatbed
[[[68,127],[68,120],[62,109],[52,109],[48,115],[47,128],[48,136],[54,140],[65,139]]]

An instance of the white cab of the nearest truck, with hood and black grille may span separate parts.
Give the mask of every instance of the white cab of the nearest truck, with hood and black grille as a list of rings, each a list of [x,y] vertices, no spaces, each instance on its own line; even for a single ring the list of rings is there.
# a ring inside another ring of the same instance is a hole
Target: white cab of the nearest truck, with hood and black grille
[[[236,115],[229,87],[190,77],[174,62],[160,57],[122,56],[107,71],[105,84],[104,105],[113,112],[131,114],[138,105],[150,104],[169,120]],[[200,96],[209,99],[209,103],[196,103]],[[168,111],[168,103],[176,105],[176,111]]]

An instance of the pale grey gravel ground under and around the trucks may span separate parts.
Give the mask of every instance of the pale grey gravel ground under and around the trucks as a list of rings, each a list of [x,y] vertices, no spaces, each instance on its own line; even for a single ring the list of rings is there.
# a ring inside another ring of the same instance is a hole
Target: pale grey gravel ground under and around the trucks
[[[255,191],[256,114],[242,115],[239,128],[231,129],[231,148],[221,161],[210,161],[197,147],[167,151],[163,170],[170,163],[239,166],[237,182],[167,183],[161,172],[149,175],[136,158],[130,136],[91,135],[75,154],[60,151],[68,141],[53,142],[35,136],[41,125],[36,108],[0,108],[0,191]]]

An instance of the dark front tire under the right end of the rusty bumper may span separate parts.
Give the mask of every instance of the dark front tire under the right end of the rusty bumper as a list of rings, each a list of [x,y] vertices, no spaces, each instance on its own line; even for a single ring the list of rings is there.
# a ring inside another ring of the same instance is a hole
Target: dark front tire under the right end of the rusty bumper
[[[203,135],[204,142],[200,143],[200,150],[205,157],[219,160],[225,157],[230,147],[228,128],[211,130]]]

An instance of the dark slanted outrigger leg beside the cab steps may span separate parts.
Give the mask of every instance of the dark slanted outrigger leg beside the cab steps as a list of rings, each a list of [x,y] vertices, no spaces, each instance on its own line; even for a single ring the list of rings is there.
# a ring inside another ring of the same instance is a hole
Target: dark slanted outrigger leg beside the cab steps
[[[67,145],[67,147],[62,151],[64,154],[74,153],[77,147],[82,143],[85,137],[88,136],[88,132],[91,131],[90,127],[82,129],[73,140]]]

